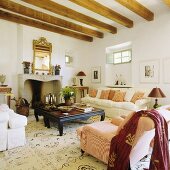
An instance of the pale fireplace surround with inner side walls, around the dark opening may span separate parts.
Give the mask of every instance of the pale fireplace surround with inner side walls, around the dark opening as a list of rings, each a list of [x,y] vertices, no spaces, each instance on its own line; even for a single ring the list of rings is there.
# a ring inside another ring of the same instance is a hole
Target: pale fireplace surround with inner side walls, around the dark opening
[[[62,86],[62,76],[59,75],[37,75],[37,74],[19,74],[18,75],[18,93],[19,97],[32,100],[32,89],[29,80],[44,82],[42,98],[48,93],[59,93]]]

